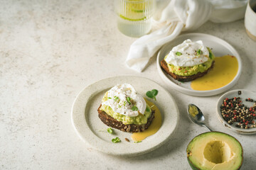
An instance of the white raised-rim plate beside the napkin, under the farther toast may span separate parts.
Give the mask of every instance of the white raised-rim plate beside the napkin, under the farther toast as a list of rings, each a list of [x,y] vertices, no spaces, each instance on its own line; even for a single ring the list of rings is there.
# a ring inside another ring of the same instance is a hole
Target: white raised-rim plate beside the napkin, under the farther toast
[[[196,40],[203,40],[203,43],[210,48],[213,48],[213,54],[215,56],[223,56],[223,55],[233,55],[238,60],[238,73],[236,74],[233,81],[231,81],[226,86],[223,86],[219,89],[214,89],[210,91],[196,91],[191,89],[191,81],[181,83],[180,81],[175,80],[169,74],[166,74],[163,69],[161,69],[160,62],[164,59],[164,57],[170,52],[170,50],[178,45],[181,44],[184,40],[191,39],[192,41]],[[238,81],[240,74],[242,72],[242,61],[240,59],[240,55],[235,50],[234,47],[232,47],[228,42],[225,42],[224,40],[221,40],[220,38],[217,38],[213,35],[207,35],[202,33],[189,33],[189,34],[183,34],[179,35],[175,40],[168,42],[166,45],[164,45],[161,50],[159,50],[159,53],[157,55],[157,70],[159,72],[159,75],[161,78],[166,82],[166,84],[169,84],[174,89],[180,91],[183,94],[188,94],[191,96],[213,96],[215,94],[220,94],[224,91],[227,91],[232,86],[235,85],[235,83]]]

